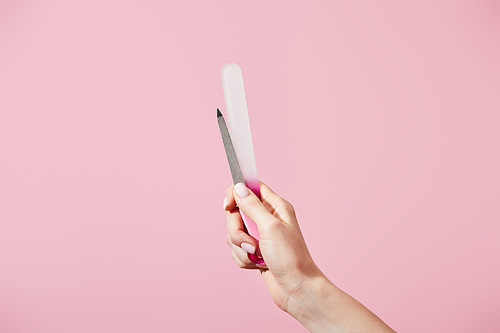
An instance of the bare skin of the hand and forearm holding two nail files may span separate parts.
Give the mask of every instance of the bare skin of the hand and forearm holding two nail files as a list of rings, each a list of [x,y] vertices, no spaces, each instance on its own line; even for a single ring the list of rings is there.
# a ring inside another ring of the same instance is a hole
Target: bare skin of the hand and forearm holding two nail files
[[[259,270],[276,305],[311,332],[394,332],[321,272],[307,249],[293,206],[259,183],[261,200],[248,189],[242,197],[234,186],[226,190],[226,238],[234,262],[243,269]],[[240,209],[257,224],[258,246],[245,232]],[[242,243],[256,248],[266,265],[252,262]]]

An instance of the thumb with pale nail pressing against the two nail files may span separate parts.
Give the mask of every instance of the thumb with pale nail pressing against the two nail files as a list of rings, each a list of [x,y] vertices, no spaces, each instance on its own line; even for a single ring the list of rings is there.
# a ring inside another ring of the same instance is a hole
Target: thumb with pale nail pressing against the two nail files
[[[234,185],[234,192],[234,199],[239,209],[255,222],[259,231],[279,222],[245,184]]]

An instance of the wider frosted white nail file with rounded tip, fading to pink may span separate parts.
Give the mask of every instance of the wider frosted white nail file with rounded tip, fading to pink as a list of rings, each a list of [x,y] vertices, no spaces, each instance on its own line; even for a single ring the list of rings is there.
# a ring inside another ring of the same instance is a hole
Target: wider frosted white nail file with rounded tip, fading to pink
[[[222,67],[221,76],[228,128],[238,164],[243,174],[245,185],[260,199],[252,133],[250,131],[250,120],[248,118],[245,88],[243,86],[243,74],[240,66],[235,63],[229,63]],[[240,211],[240,214],[248,234],[258,242],[260,237],[257,225],[243,212]]]

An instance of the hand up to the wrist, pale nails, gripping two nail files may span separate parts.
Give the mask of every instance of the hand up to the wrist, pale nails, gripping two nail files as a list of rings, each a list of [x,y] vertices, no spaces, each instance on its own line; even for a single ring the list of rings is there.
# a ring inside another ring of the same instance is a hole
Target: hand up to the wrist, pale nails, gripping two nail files
[[[235,263],[259,269],[276,305],[288,312],[290,297],[324,275],[307,250],[293,206],[264,183],[259,185],[262,201],[242,183],[226,190],[227,243]],[[257,224],[259,242],[245,232],[240,209]],[[265,266],[250,260],[248,254],[255,252]]]

